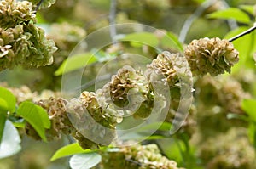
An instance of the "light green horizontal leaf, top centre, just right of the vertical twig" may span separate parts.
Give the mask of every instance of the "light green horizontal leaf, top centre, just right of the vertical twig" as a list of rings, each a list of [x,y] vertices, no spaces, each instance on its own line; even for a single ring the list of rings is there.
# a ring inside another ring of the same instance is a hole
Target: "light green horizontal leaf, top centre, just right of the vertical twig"
[[[153,33],[149,32],[131,33],[121,38],[120,40],[133,42],[133,44],[136,44],[137,47],[139,47],[139,43],[146,44],[151,47],[157,47],[157,45],[159,44],[157,37],[155,37]]]

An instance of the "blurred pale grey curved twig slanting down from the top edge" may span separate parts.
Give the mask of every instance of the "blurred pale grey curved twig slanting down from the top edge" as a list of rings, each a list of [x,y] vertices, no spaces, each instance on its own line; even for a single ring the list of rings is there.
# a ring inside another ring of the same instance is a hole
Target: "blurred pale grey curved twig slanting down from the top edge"
[[[179,42],[184,42],[185,38],[188,34],[189,28],[194,22],[195,19],[197,19],[208,7],[210,7],[213,3],[216,3],[216,0],[207,0],[204,3],[201,4],[200,7],[195,9],[195,12],[189,16],[189,18],[185,21],[182,30],[179,34]]]

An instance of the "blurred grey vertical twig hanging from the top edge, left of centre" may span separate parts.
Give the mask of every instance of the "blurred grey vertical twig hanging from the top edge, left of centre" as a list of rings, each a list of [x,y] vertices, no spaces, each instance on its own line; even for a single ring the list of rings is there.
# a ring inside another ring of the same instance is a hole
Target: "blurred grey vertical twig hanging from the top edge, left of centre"
[[[112,42],[115,43],[115,37],[116,37],[116,27],[115,27],[115,14],[116,14],[116,0],[111,0],[110,3],[110,12],[109,12],[109,26],[110,26],[110,37],[112,39]]]

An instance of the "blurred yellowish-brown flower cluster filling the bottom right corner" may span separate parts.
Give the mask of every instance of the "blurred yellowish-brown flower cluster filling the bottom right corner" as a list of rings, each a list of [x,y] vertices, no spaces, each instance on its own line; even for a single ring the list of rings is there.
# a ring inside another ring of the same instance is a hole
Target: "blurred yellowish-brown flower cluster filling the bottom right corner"
[[[235,127],[217,138],[207,139],[201,145],[199,155],[209,169],[253,169],[256,165],[255,151],[249,143],[245,128]]]

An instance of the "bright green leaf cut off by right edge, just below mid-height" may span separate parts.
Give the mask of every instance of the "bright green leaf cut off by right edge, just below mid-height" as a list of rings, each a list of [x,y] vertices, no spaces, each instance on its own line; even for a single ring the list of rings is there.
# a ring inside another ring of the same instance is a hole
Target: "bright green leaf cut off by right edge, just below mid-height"
[[[241,103],[241,109],[247,112],[250,120],[256,122],[256,99],[244,99]]]

